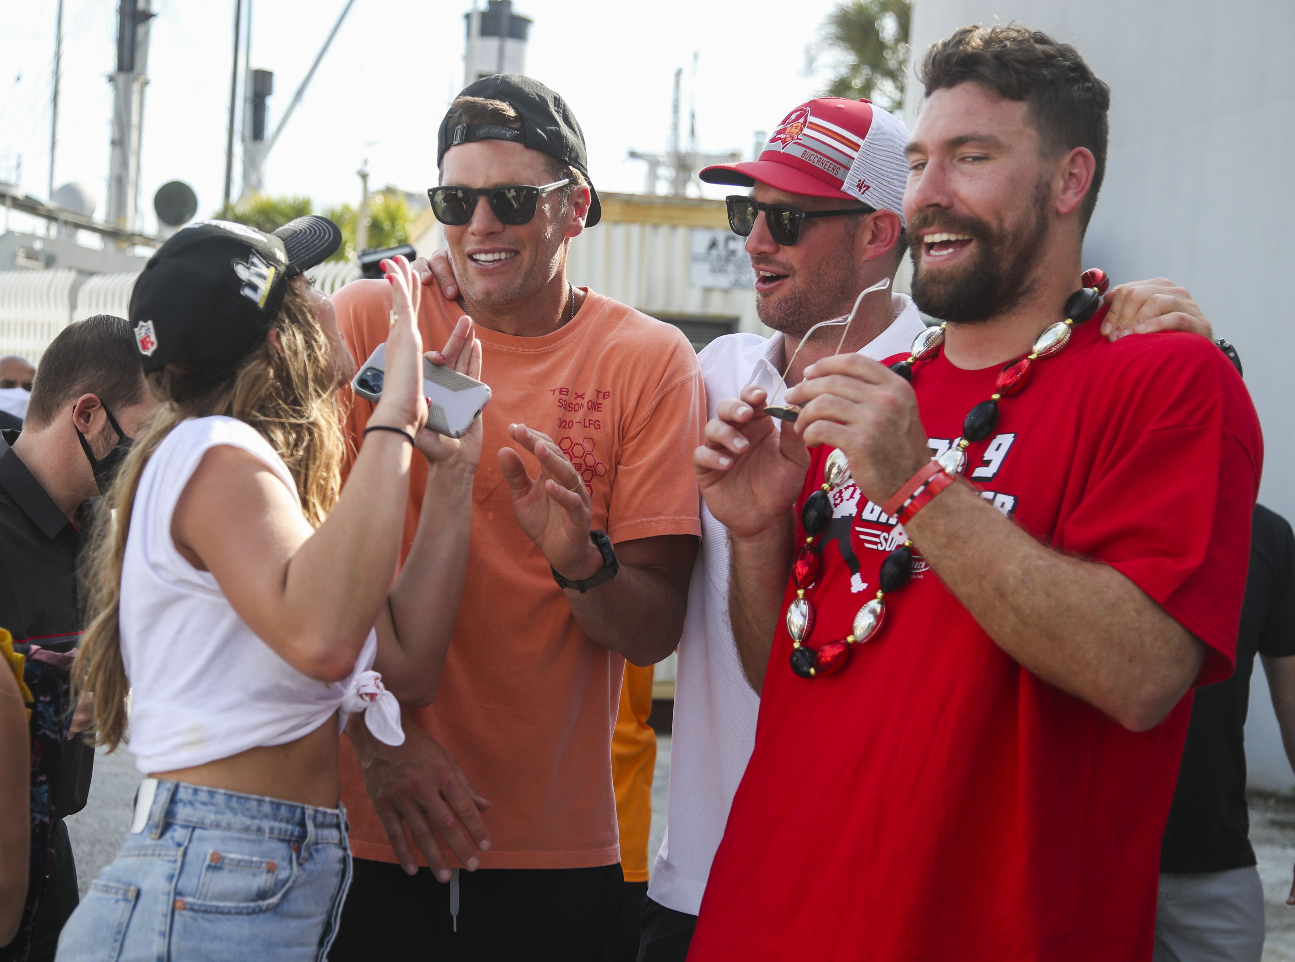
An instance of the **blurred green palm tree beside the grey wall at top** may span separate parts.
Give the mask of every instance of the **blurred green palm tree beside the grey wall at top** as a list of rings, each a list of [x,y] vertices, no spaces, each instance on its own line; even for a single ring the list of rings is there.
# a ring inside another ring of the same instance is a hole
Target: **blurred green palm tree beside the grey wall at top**
[[[822,40],[809,50],[833,57],[825,97],[868,97],[897,111],[904,104],[909,0],[840,0],[822,25]]]

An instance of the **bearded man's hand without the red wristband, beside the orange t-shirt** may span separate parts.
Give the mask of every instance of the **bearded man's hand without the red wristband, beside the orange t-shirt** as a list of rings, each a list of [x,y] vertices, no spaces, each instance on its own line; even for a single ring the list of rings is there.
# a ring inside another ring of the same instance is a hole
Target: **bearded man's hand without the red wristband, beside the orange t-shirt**
[[[809,452],[790,426],[764,413],[765,394],[746,387],[720,401],[693,452],[693,471],[715,519],[736,537],[758,535],[786,519],[804,484]]]

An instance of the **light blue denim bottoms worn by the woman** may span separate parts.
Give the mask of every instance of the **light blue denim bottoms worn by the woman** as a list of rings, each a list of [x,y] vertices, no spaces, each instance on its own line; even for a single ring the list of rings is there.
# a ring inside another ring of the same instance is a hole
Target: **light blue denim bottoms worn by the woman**
[[[58,962],[324,959],[351,884],[344,809],[155,785]]]

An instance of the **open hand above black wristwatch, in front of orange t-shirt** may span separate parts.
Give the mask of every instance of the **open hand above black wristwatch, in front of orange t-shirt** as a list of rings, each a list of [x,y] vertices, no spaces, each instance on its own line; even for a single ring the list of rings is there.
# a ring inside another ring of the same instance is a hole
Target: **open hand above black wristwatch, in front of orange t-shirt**
[[[584,480],[546,434],[526,425],[509,425],[508,434],[540,462],[540,474],[532,478],[513,448],[499,451],[499,466],[512,491],[522,531],[563,577],[576,581],[593,577],[603,562],[589,540],[593,513]]]

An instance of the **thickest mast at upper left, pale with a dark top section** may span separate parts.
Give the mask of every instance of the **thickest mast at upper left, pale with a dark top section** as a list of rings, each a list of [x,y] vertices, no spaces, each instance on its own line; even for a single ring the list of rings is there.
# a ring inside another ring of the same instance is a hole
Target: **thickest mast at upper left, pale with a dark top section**
[[[113,74],[113,145],[107,176],[107,223],[135,230],[140,194],[144,88],[148,85],[153,0],[120,0],[117,73]]]

